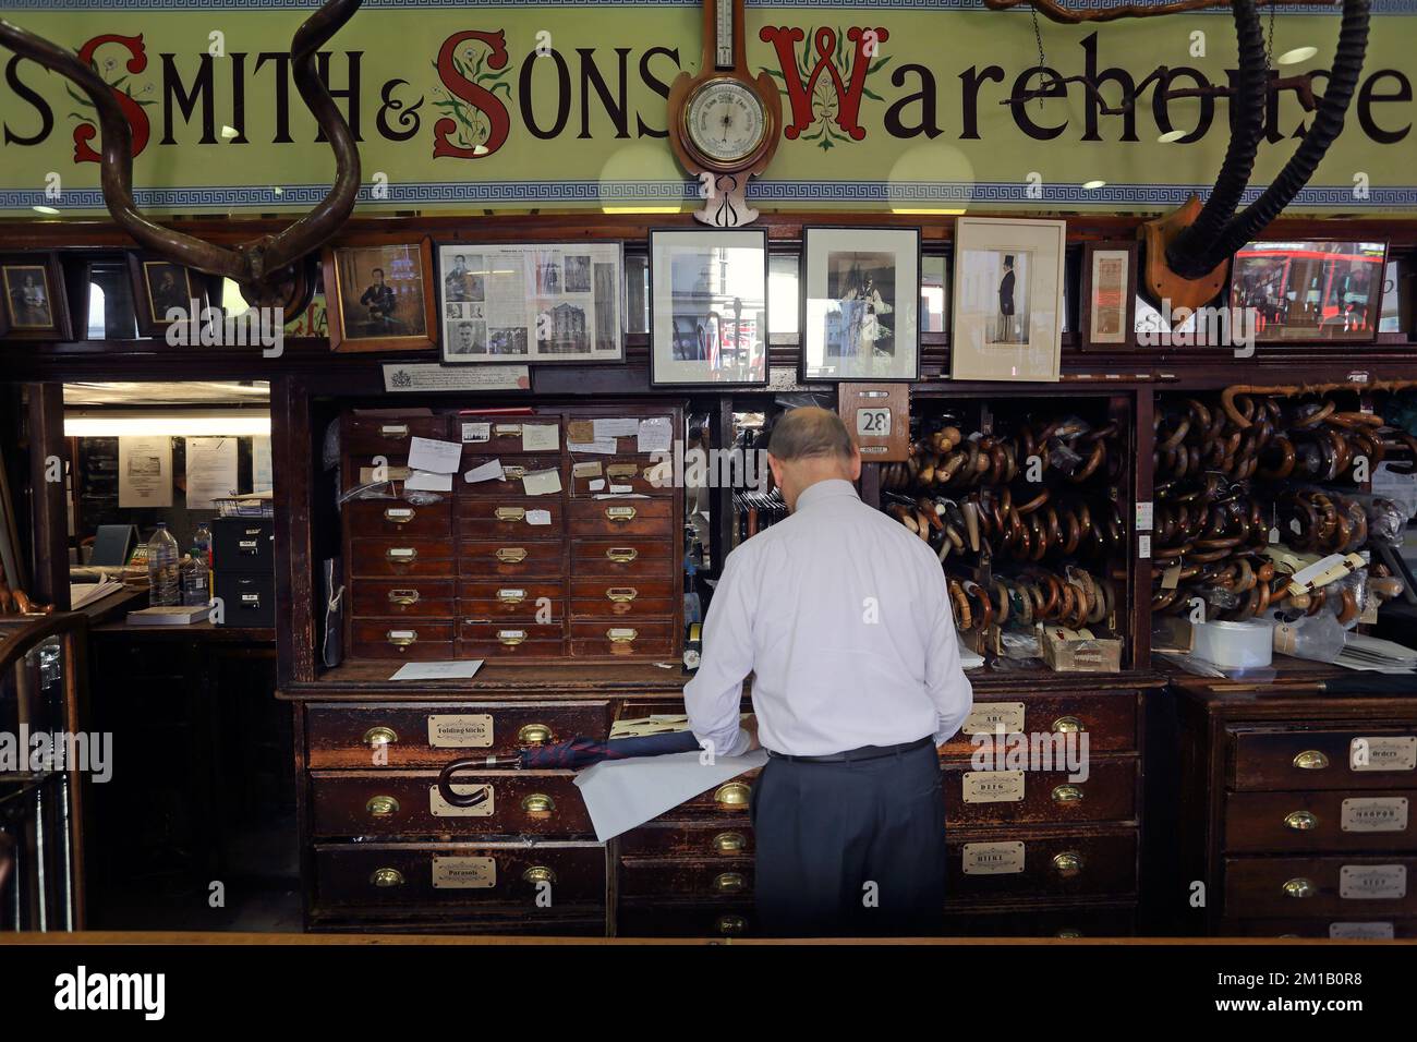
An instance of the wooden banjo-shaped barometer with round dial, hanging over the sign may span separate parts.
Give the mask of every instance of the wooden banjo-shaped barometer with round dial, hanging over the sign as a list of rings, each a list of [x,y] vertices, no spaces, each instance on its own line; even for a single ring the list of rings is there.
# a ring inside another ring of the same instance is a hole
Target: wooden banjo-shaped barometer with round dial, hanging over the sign
[[[704,0],[704,54],[699,72],[669,88],[669,142],[703,184],[694,217],[716,228],[757,220],[747,187],[777,152],[782,103],[767,72],[750,75],[743,43],[743,0]]]

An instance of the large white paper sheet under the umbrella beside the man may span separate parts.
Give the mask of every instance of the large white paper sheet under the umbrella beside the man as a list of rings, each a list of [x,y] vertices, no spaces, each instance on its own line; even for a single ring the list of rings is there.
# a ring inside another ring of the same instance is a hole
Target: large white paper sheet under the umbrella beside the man
[[[765,750],[699,763],[701,753],[606,760],[575,775],[601,842],[639,828],[650,818],[768,761]]]

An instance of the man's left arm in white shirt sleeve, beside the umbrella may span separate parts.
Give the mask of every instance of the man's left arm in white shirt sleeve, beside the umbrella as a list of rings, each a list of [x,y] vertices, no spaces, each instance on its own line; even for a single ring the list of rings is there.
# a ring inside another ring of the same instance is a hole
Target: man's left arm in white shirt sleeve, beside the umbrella
[[[689,727],[716,756],[743,756],[757,747],[754,737],[738,726],[743,682],[752,672],[752,617],[757,608],[754,577],[745,576],[744,567],[741,549],[724,560],[723,576],[704,618],[699,672],[684,685]]]

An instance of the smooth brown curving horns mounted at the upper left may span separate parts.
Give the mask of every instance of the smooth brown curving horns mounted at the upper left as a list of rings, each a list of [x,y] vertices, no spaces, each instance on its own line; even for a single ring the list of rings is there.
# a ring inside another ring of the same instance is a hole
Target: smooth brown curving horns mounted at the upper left
[[[133,201],[133,132],[112,88],[78,55],[0,18],[0,43],[16,54],[71,79],[98,108],[103,135],[103,201],[113,220],[137,242],[177,264],[235,279],[254,305],[298,310],[315,289],[319,250],[354,208],[360,187],[359,147],[349,123],[315,67],[315,55],[359,10],[361,0],[329,0],[296,30],[290,67],[300,98],[334,150],[334,184],[315,210],[273,235],[221,247],[150,221]]]

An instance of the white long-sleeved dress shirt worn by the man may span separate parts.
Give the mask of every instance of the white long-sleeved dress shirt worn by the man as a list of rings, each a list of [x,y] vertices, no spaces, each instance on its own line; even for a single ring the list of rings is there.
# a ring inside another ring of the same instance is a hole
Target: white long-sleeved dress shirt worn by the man
[[[808,486],[789,517],[728,554],[703,639],[684,706],[718,756],[747,751],[748,673],[758,740],[789,756],[939,744],[973,702],[939,560],[847,481]]]

